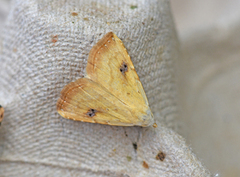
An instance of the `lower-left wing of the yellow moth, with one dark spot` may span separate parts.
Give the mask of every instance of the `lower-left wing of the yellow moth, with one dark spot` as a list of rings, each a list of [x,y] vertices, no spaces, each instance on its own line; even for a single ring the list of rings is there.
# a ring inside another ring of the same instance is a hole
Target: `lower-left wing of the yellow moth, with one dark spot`
[[[87,78],[66,85],[57,102],[58,113],[68,119],[118,126],[151,124],[141,119],[143,112],[136,114],[131,110],[106,88]]]

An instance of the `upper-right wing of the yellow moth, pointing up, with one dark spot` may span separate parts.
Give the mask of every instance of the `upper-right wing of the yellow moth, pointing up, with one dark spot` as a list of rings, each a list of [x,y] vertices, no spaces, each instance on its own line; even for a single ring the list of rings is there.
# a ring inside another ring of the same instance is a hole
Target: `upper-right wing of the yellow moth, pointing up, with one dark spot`
[[[101,84],[125,104],[138,107],[145,112],[150,111],[146,94],[130,56],[122,41],[114,33],[107,33],[92,48],[86,72],[86,77]],[[153,119],[152,115],[150,119]]]

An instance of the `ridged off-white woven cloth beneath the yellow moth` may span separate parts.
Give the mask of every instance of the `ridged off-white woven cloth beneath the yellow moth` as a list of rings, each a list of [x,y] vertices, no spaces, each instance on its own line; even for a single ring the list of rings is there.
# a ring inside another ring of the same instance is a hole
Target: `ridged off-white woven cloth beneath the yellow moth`
[[[60,91],[84,76],[90,49],[109,31],[131,56],[157,128],[76,122],[56,111]],[[173,131],[177,56],[166,0],[12,1],[1,36],[0,175],[210,176]]]

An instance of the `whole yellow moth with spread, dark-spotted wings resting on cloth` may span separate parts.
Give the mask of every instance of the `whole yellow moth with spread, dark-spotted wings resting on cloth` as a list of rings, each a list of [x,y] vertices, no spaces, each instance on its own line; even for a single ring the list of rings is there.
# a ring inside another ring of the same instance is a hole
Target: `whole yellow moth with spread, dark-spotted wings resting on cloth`
[[[115,126],[154,122],[130,56],[113,32],[91,49],[85,77],[63,88],[57,111],[67,119]]]

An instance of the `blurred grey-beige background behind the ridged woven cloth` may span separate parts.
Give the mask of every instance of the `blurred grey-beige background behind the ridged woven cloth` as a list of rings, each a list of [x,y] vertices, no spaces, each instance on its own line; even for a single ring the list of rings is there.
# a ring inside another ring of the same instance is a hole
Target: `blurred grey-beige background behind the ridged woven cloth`
[[[0,32],[10,3],[0,0]],[[240,0],[170,4],[181,53],[178,133],[213,174],[240,176]]]

